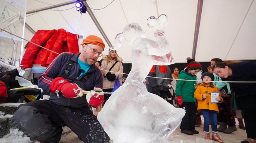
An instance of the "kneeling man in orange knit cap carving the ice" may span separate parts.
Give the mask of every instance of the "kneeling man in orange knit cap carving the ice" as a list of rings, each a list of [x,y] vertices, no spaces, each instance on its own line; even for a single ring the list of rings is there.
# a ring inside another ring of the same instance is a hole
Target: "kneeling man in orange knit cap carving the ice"
[[[58,143],[62,127],[68,126],[85,143],[109,142],[88,105],[96,107],[104,101],[103,75],[94,63],[105,44],[100,37],[89,35],[81,45],[81,53],[60,54],[41,75],[38,86],[50,90],[49,100],[22,104],[10,118],[12,127],[30,140]],[[90,92],[85,96],[82,90]]]

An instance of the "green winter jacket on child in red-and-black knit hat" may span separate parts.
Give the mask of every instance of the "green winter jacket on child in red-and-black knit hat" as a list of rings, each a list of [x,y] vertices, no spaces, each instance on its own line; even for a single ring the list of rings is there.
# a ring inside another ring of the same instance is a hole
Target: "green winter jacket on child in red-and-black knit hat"
[[[176,84],[176,96],[182,96],[183,102],[195,102],[194,98],[196,75],[192,75],[182,70],[179,75],[179,79],[187,79],[194,81],[180,81]]]

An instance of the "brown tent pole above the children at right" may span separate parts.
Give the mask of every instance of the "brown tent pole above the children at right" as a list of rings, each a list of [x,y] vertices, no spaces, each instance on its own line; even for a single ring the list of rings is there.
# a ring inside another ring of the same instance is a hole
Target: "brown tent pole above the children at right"
[[[195,59],[203,2],[204,0],[198,0],[197,2],[197,13],[196,13],[196,20],[195,20],[195,34],[194,34],[194,43],[193,43],[193,49],[192,49],[192,59]]]

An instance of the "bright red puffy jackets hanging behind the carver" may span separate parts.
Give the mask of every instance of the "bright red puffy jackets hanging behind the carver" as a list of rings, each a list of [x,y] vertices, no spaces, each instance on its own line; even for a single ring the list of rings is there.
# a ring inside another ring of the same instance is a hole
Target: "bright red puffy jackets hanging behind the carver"
[[[38,30],[31,42],[41,45],[49,50],[61,54],[62,52],[79,53],[78,34],[58,30]],[[32,68],[33,64],[41,64],[47,67],[58,54],[50,52],[37,45],[28,44],[21,61],[21,69]]]

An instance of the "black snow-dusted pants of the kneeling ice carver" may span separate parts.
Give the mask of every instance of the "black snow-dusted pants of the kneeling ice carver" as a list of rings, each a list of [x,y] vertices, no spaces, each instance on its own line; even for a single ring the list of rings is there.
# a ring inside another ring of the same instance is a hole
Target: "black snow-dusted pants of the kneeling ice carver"
[[[109,143],[109,136],[90,111],[70,109],[49,100],[20,105],[9,123],[30,140],[45,143],[58,143],[62,126],[68,126],[85,143]]]

